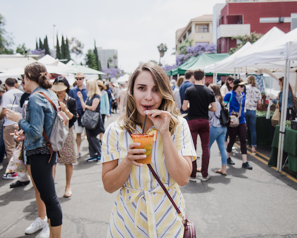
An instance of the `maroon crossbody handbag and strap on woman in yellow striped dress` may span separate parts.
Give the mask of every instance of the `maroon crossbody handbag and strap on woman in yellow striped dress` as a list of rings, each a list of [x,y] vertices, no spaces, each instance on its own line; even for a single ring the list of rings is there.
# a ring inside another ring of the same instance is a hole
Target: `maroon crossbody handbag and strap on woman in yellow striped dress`
[[[151,171],[151,173],[153,174],[153,176],[157,179],[157,181],[159,182],[160,186],[163,188],[165,194],[167,195],[167,197],[169,198],[170,202],[172,203],[172,205],[176,209],[178,215],[180,215],[183,218],[183,224],[184,224],[184,227],[185,227],[184,238],[196,238],[196,229],[195,229],[194,223],[192,221],[188,220],[187,215],[186,215],[186,218],[183,217],[181,211],[178,209],[177,205],[173,201],[173,199],[170,196],[169,192],[167,191],[166,187],[161,182],[161,180],[159,179],[159,177],[156,175],[156,173],[154,172],[154,170],[152,169],[152,167],[151,167],[150,164],[148,164],[148,168]]]

